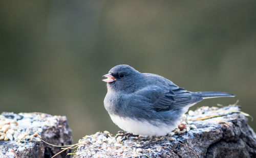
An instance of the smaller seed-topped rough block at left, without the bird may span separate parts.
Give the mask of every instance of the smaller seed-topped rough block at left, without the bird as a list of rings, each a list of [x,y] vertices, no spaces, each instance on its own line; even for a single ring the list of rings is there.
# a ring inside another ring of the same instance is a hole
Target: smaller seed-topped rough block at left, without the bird
[[[8,126],[7,126],[8,125]],[[4,128],[4,129],[3,129]],[[8,128],[8,129],[7,129]],[[0,157],[51,157],[61,151],[54,145],[70,145],[71,129],[65,116],[43,113],[2,113],[0,115]],[[66,156],[70,150],[56,157]]]

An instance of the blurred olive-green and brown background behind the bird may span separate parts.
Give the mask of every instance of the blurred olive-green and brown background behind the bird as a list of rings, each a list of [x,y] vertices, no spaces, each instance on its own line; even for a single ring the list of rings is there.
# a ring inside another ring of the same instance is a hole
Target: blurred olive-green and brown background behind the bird
[[[119,130],[101,81],[118,64],[256,118],[256,1],[1,1],[0,22],[1,112],[65,115],[73,143]]]

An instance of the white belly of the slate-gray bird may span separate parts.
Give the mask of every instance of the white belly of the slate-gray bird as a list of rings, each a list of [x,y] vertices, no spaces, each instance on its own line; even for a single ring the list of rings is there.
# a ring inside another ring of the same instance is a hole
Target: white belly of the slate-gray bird
[[[122,130],[143,136],[164,136],[178,126],[178,121],[174,122],[173,125],[167,125],[162,122],[154,122],[154,125],[146,120],[119,117],[117,115],[110,115],[110,117],[112,121]]]

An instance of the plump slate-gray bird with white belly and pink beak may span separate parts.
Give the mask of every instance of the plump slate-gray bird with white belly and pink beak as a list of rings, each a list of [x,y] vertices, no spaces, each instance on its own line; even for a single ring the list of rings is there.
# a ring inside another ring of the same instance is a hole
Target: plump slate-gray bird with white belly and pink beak
[[[189,92],[166,78],[140,73],[129,65],[113,67],[104,107],[121,129],[144,136],[163,136],[178,126],[188,108],[205,98],[233,97],[224,92]]]

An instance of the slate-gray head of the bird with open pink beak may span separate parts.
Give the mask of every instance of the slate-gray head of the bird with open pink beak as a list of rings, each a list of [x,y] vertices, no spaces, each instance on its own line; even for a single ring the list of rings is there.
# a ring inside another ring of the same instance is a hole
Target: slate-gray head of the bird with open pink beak
[[[117,65],[110,69],[108,74],[103,75],[108,77],[102,81],[108,83],[108,90],[125,91],[127,93],[136,90],[143,75],[129,65]]]

